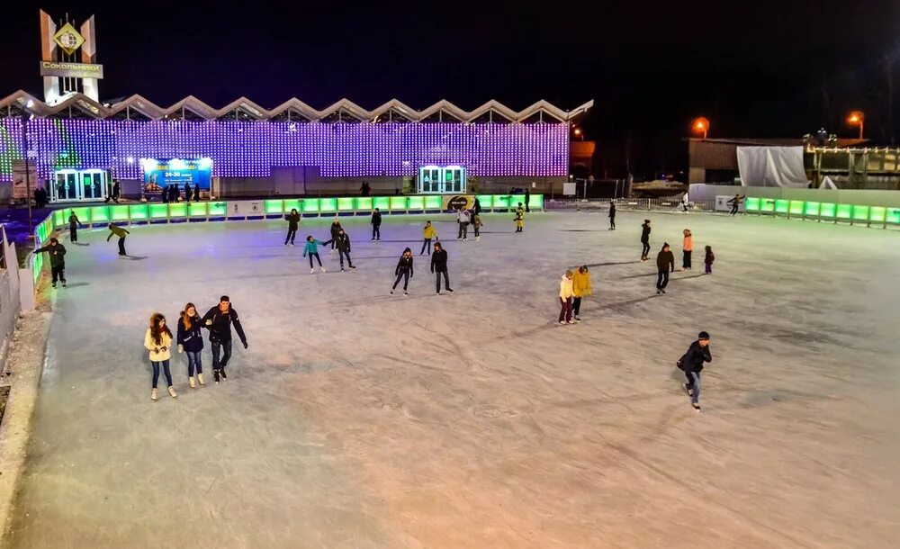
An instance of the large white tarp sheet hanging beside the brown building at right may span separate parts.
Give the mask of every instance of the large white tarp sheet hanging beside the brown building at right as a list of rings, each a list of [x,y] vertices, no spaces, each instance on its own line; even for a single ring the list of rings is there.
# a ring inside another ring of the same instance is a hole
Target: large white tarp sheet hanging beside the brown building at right
[[[744,186],[809,186],[803,166],[803,147],[738,147],[737,166]]]

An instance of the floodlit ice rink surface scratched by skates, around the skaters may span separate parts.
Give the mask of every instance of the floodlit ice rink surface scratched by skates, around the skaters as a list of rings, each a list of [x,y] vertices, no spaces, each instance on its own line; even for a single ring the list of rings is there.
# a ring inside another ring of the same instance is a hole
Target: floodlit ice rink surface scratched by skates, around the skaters
[[[648,214],[484,216],[453,295],[418,256],[425,217],[342,219],[358,268],[310,275],[303,220],[144,226],[67,246],[22,491],[4,546],[896,547],[900,233],[653,213],[680,266],[655,295]],[[471,235],[470,235],[471,236]],[[88,245],[89,246],[85,246]],[[703,247],[716,253],[703,276]],[[410,296],[389,295],[403,247]],[[556,323],[559,279],[595,295]],[[150,401],[153,311],[231,297],[229,379]],[[700,413],[673,363],[712,335]],[[892,541],[893,540],[893,541]]]

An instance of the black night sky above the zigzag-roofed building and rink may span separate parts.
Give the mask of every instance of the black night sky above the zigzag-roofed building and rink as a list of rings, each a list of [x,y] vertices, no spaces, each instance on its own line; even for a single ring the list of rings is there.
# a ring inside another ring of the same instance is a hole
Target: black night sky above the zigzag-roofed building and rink
[[[820,126],[853,137],[843,120],[860,109],[867,138],[900,138],[900,0],[15,2],[0,18],[0,95],[42,94],[39,8],[76,27],[96,16],[103,100],[518,110],[593,99],[581,124],[608,151],[597,168],[608,176],[622,175],[625,143],[635,175],[684,169],[680,139],[697,115],[710,138]]]

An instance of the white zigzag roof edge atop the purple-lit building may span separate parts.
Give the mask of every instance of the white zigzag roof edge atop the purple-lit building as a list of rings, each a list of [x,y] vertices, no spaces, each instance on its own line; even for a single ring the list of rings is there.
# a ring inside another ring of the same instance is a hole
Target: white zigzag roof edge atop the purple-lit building
[[[491,117],[496,115],[500,121],[520,122],[526,121],[535,115],[546,115],[547,121],[571,121],[573,118],[587,112],[592,106],[594,106],[594,102],[589,101],[572,109],[572,111],[563,111],[563,109],[542,100],[517,112],[500,102],[491,100],[473,111],[464,111],[453,103],[439,101],[426,109],[417,111],[409,105],[394,99],[376,107],[372,111],[367,111],[348,99],[341,99],[337,103],[318,111],[297,98],[290,99],[273,109],[265,109],[246,97],[241,97],[220,109],[214,109],[193,95],[189,95],[178,103],[164,108],[140,95],[131,95],[128,99],[124,99],[119,103],[103,105],[96,103],[85,94],[72,94],[65,101],[49,105],[31,94],[19,90],[0,100],[0,117],[17,116],[27,108],[28,111],[42,118],[94,118],[98,120],[120,118],[125,114],[130,118],[147,118],[149,120],[168,118],[286,120],[291,118],[298,121],[304,119],[306,121],[389,121],[394,120],[393,117],[396,116],[396,120],[424,121],[429,117],[446,114],[450,120],[455,119],[463,122],[476,121],[486,115]],[[130,116],[132,112],[136,112],[136,114]],[[292,114],[293,117],[291,117]],[[335,118],[336,116],[338,117],[337,119]]]

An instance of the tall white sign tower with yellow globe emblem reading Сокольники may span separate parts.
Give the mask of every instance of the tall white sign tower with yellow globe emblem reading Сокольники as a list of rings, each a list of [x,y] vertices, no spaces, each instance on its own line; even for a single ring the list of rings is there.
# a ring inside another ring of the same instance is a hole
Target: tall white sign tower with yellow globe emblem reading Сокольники
[[[40,76],[44,77],[44,102],[56,104],[68,94],[81,92],[100,101],[97,81],[103,78],[98,65],[94,15],[81,23],[80,31],[66,18],[59,26],[40,10]]]

